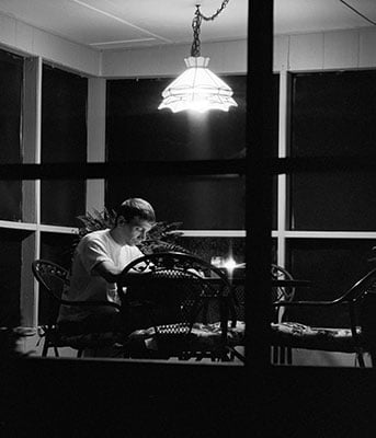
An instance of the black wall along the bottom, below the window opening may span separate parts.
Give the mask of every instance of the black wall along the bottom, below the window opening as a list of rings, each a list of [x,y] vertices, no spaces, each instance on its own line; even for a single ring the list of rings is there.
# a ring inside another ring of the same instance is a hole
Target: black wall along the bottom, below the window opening
[[[0,364],[4,437],[373,437],[373,370],[23,359]]]

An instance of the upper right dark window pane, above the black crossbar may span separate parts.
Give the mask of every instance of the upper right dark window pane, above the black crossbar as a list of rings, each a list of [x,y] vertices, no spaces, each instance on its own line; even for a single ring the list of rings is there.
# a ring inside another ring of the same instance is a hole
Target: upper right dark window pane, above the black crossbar
[[[292,154],[375,155],[376,71],[293,74]]]

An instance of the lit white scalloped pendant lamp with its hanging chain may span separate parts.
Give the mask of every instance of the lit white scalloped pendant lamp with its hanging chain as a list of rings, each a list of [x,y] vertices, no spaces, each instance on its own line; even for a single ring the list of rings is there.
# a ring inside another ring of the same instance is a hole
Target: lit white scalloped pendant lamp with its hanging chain
[[[214,20],[228,2],[229,0],[225,0],[212,16],[203,15],[200,4],[196,5],[192,21],[191,56],[184,59],[186,70],[164,89],[163,101],[158,110],[170,108],[173,113],[187,110],[205,113],[209,110],[228,111],[230,106],[238,106],[231,97],[232,90],[207,68],[209,58],[202,57],[200,53],[202,20]]]

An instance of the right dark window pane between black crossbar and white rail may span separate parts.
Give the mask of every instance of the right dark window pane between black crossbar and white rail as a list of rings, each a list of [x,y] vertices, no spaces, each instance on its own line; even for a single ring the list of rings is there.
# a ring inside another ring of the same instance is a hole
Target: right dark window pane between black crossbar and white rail
[[[376,173],[305,173],[290,177],[290,229],[375,230]]]

